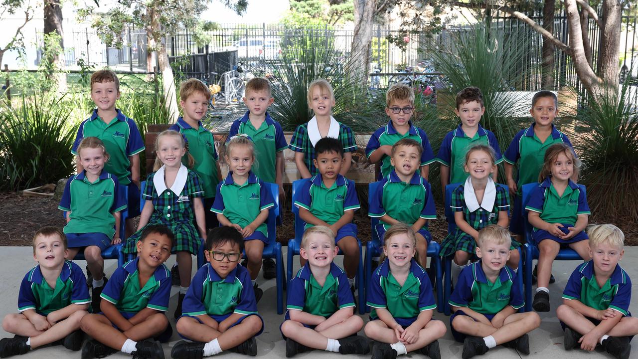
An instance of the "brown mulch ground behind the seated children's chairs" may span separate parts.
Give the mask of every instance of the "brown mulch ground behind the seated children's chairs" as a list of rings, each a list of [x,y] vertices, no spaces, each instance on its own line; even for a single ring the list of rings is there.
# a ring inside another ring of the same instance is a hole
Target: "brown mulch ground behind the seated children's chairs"
[[[286,201],[288,202],[288,201]],[[50,197],[25,197],[18,193],[0,194],[0,246],[30,246],[33,234],[40,227],[54,225],[64,226],[62,212],[57,209],[57,202]],[[294,236],[293,215],[290,203],[284,206],[283,224],[277,229],[277,240],[283,245]],[[438,218],[443,218],[440,209]],[[370,238],[370,220],[367,208],[355,212],[355,224],[362,242]],[[602,218],[591,216],[590,223],[614,223],[625,233],[626,245],[638,245],[638,225],[631,218]],[[440,242],[447,234],[447,223],[435,220],[430,224],[434,240]]]

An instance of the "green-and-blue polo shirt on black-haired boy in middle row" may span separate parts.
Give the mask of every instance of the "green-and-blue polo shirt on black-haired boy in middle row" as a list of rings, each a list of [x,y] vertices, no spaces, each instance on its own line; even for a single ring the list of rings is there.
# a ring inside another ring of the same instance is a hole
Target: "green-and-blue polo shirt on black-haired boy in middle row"
[[[308,210],[313,216],[327,224],[335,224],[345,211],[359,209],[355,183],[341,174],[337,175],[330,188],[325,187],[321,174],[306,181],[299,190],[295,206]],[[306,224],[306,229],[312,227]]]

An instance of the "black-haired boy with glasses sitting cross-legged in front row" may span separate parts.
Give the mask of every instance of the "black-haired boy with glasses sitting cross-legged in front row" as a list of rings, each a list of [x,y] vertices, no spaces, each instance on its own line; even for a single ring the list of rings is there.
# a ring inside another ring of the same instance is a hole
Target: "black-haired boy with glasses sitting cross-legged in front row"
[[[177,320],[179,335],[193,342],[175,344],[172,358],[199,359],[229,349],[257,355],[255,336],[263,331],[263,319],[248,270],[237,265],[243,249],[244,238],[234,227],[211,229],[205,248],[209,263],[195,273]]]

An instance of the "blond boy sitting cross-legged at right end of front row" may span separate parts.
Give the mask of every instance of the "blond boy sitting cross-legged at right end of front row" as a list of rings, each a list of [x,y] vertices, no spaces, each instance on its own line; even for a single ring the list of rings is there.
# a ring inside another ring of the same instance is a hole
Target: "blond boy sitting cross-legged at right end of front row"
[[[638,319],[629,313],[632,281],[618,262],[625,234],[612,224],[590,227],[590,261],[580,264],[563,291],[556,316],[565,330],[565,350],[592,351],[600,344],[607,353],[627,359],[629,342],[638,334]]]

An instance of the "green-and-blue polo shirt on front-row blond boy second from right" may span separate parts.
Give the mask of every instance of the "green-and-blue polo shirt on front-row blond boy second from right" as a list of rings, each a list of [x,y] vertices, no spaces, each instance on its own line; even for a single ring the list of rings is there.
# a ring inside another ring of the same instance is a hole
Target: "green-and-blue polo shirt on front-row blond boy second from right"
[[[496,314],[507,305],[518,310],[524,305],[523,288],[516,280],[516,273],[508,266],[501,268],[494,283],[489,282],[481,261],[478,261],[463,268],[449,303],[481,314]]]

